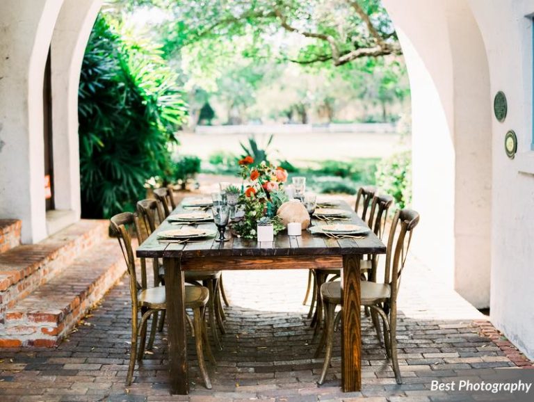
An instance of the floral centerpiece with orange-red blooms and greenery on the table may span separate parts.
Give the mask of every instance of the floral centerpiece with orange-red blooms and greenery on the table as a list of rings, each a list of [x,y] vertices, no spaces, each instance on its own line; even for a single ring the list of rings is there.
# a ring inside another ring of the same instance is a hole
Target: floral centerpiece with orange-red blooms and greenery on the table
[[[284,230],[282,220],[276,216],[276,211],[287,201],[284,192],[284,183],[287,181],[286,170],[266,161],[254,164],[252,156],[245,156],[239,161],[239,165],[243,188],[238,205],[244,210],[245,215],[234,224],[235,232],[245,239],[256,239],[258,222],[266,222],[265,218],[272,223],[274,234]]]

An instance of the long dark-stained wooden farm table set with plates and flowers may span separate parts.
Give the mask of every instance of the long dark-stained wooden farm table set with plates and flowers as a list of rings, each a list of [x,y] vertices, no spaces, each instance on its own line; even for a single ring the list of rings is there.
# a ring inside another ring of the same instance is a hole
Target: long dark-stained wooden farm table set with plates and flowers
[[[346,202],[350,220],[339,223],[365,225]],[[180,204],[176,211],[184,208]],[[320,223],[314,218],[313,224]],[[215,228],[213,223],[207,223]],[[198,225],[201,227],[202,225]],[[372,232],[364,239],[329,239],[288,236],[282,232],[273,243],[232,238],[225,243],[214,239],[185,244],[159,243],[158,232],[177,228],[165,220],[137,249],[138,257],[163,258],[167,303],[169,370],[172,394],[188,394],[186,312],[184,309],[184,271],[234,271],[252,269],[340,268],[343,266],[343,320],[341,331],[341,387],[344,392],[359,391],[362,385],[360,357],[359,259],[366,254],[384,254],[386,247]],[[231,236],[227,230],[226,236]]]

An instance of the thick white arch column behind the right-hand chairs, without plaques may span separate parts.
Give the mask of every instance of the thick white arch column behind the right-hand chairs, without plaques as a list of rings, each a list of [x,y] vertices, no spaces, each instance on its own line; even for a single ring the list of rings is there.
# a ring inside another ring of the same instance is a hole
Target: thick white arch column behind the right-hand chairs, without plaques
[[[412,90],[414,251],[476,307],[489,305],[491,116],[480,31],[466,0],[385,0]]]

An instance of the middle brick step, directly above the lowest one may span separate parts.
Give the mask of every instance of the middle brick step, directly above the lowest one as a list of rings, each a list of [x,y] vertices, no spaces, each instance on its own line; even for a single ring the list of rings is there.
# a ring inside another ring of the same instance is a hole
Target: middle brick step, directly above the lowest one
[[[87,227],[86,232],[78,233]],[[0,255],[1,259],[9,254],[17,255],[17,250],[31,250],[40,247],[49,248],[47,255],[38,262],[27,264],[24,269],[13,271],[0,271],[0,321],[3,319],[3,311],[15,305],[19,300],[48,282],[62,269],[70,264],[80,252],[84,252],[91,246],[108,239],[108,220],[80,220],[66,227],[64,230],[49,236],[35,245],[22,245]],[[70,250],[77,249],[77,252]]]

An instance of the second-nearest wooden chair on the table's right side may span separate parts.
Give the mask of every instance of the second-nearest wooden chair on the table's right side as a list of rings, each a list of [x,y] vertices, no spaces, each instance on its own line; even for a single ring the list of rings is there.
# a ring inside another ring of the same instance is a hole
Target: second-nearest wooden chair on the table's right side
[[[394,198],[391,195],[374,195],[371,202],[371,211],[369,214],[368,225],[373,233],[382,239],[384,235],[384,227],[386,224],[387,213],[391,205],[393,205]],[[360,261],[360,271],[362,271],[363,280],[376,280],[376,265],[378,264],[377,255],[368,255],[366,259]],[[317,268],[312,270],[314,280],[317,284],[315,295],[316,308],[314,319],[312,319],[312,326],[315,325],[314,337],[318,334],[319,326],[323,318],[323,301],[321,300],[320,289],[323,283],[327,282],[329,275],[334,275],[330,280],[335,280],[341,276],[341,268]],[[367,277],[365,276],[367,275]],[[366,310],[367,312],[367,310]],[[375,327],[378,327],[378,316],[371,314]],[[380,337],[380,329],[377,330],[377,335]]]

